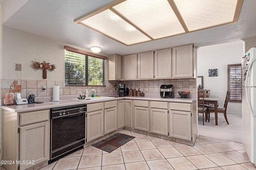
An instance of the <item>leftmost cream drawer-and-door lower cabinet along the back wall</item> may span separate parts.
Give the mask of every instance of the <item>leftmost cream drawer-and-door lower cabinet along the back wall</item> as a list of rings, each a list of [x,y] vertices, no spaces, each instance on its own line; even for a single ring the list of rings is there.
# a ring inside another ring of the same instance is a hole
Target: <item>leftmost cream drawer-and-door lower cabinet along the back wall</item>
[[[148,101],[134,100],[134,129],[149,131]]]

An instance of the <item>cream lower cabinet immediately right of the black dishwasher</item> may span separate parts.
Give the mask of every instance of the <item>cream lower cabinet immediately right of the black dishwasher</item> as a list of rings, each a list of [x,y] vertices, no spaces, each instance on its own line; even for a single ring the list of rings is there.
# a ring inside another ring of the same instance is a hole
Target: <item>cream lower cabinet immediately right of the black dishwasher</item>
[[[86,124],[86,142],[104,135],[103,102],[87,104]]]

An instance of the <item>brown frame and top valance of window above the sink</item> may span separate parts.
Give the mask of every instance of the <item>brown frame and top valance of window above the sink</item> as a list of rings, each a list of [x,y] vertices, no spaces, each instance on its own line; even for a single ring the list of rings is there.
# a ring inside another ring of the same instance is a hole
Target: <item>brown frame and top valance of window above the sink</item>
[[[94,54],[94,53],[90,53],[88,51],[84,51],[84,50],[81,50],[81,49],[76,49],[76,48],[73,48],[73,47],[69,47],[69,46],[64,46],[64,49],[67,50],[67,51],[70,51],[70,52],[73,52],[73,53],[79,53],[79,54],[82,54],[82,55],[85,55],[86,59],[87,59],[87,66],[88,66],[88,57],[94,57],[94,58],[98,58],[98,59],[102,59],[103,60],[103,66],[102,66],[102,69],[103,69],[103,75],[102,75],[102,86],[101,85],[88,85],[88,84],[66,84],[66,77],[65,77],[65,86],[94,86],[94,87],[105,87],[106,86],[106,80],[105,80],[105,77],[106,77],[106,59],[107,57],[106,56],[103,56],[103,55],[98,55],[98,54]],[[66,54],[65,54],[65,58],[66,58]],[[87,72],[85,74],[88,74],[88,67],[86,67],[86,70]],[[66,74],[66,72],[65,72]],[[86,76],[86,79],[88,79],[88,76]]]

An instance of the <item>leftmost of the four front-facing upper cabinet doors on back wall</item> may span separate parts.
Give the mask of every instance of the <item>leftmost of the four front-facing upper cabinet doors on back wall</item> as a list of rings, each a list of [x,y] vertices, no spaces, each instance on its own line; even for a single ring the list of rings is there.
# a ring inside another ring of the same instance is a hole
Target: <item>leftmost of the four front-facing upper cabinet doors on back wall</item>
[[[137,54],[124,56],[124,80],[137,79]]]

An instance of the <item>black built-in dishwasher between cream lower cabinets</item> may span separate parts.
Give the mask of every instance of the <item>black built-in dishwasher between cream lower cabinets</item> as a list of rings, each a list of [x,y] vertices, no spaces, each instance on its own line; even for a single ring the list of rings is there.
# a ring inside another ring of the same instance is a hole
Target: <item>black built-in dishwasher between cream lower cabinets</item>
[[[50,109],[50,160],[82,149],[85,142],[86,104]]]

